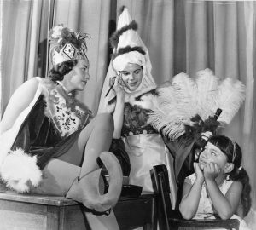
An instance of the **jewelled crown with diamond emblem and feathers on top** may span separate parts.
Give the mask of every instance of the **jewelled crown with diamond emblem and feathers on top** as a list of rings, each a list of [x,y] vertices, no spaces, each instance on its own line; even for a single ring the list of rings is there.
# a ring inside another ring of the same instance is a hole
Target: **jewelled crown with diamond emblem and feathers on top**
[[[55,26],[49,31],[50,55],[53,65],[67,60],[87,59],[87,34],[71,31],[67,27]]]

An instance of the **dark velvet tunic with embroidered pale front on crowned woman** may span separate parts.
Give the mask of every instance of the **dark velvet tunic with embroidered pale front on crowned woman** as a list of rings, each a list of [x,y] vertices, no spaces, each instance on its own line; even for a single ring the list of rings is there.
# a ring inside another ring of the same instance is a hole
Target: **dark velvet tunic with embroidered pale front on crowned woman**
[[[20,125],[11,150],[20,148],[36,155],[38,166],[44,168],[88,124],[91,113],[73,95],[67,95],[61,85],[43,79],[38,87],[42,87],[42,93]]]

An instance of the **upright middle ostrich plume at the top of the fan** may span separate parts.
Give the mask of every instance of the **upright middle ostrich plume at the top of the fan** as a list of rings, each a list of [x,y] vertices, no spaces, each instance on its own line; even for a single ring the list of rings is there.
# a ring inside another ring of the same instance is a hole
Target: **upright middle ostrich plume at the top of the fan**
[[[197,85],[197,113],[201,119],[213,116],[217,110],[219,78],[213,75],[210,69],[205,69],[196,74]]]

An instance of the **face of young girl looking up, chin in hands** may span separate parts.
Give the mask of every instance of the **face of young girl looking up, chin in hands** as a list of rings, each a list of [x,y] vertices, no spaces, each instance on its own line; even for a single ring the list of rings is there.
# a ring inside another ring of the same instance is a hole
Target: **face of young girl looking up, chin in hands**
[[[203,169],[204,164],[215,163],[218,164],[219,169],[224,171],[227,164],[227,157],[218,147],[208,142],[205,150],[201,152],[199,157],[199,164]]]

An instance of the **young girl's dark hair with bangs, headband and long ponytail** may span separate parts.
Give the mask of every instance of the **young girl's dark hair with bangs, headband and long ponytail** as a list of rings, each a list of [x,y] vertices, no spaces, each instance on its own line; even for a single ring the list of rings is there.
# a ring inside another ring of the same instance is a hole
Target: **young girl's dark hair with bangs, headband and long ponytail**
[[[252,200],[250,197],[251,186],[249,184],[249,176],[247,171],[241,168],[241,147],[235,142],[231,141],[230,138],[224,135],[214,135],[208,140],[212,145],[218,147],[227,156],[228,163],[234,164],[234,169],[228,173],[229,181],[241,181],[243,186],[241,193],[241,204],[243,207],[243,216],[247,216]]]

